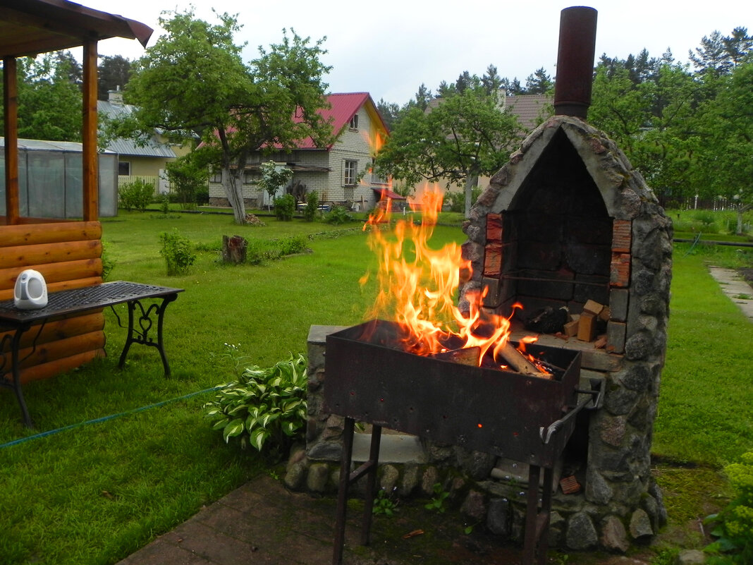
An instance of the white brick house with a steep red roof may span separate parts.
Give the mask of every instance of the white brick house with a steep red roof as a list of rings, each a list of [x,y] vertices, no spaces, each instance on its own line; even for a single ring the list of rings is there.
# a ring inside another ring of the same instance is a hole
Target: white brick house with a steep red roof
[[[332,119],[337,134],[331,145],[318,148],[312,140],[304,139],[293,151],[261,154],[248,159],[243,181],[246,206],[261,208],[269,203],[269,194],[261,190],[261,163],[273,160],[293,171],[287,187],[279,195],[291,191],[299,201],[315,191],[319,202],[347,206],[349,209],[371,209],[389,188],[386,179],[372,174],[373,160],[386,142],[389,130],[377,111],[369,93],[328,94],[329,108],[320,114]],[[294,118],[293,118],[294,119]],[[209,179],[209,203],[226,206],[227,197],[218,172]]]

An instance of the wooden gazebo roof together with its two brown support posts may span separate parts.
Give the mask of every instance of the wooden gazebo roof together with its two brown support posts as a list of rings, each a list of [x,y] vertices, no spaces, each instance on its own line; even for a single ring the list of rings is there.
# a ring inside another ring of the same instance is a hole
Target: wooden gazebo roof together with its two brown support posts
[[[152,29],[135,20],[86,8],[68,0],[0,0],[0,58],[3,61],[5,112],[5,217],[0,224],[19,224],[17,57],[70,47],[84,47],[83,142],[84,220],[99,215],[97,171],[97,41],[111,37],[138,39],[146,47]],[[31,220],[31,223],[34,221]]]

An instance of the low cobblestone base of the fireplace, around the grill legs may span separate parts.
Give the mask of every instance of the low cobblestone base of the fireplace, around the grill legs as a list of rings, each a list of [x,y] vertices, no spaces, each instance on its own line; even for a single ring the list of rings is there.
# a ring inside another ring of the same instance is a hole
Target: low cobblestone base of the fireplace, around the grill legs
[[[285,484],[291,490],[337,493],[343,418],[325,413],[323,387],[325,339],[327,334],[341,329],[314,325],[309,331],[309,421],[306,446],[297,447],[288,461]],[[587,377],[598,376],[596,371],[584,372]],[[623,433],[620,430],[624,426],[620,422],[607,419],[608,427],[602,430],[607,445],[609,441],[617,443],[616,437]],[[388,437],[383,435],[383,439]],[[395,457],[394,453],[380,457],[380,488],[403,499],[431,499],[435,495],[434,485],[440,484],[449,495],[447,502],[468,515],[474,523],[486,527],[502,541],[523,541],[527,481],[512,476],[507,479],[504,472],[501,478],[493,478],[498,475],[492,472],[498,465],[497,457],[456,446],[431,444],[417,438],[387,440],[388,443],[393,441],[410,444],[410,449],[396,450],[401,452],[401,457]],[[364,443],[368,443],[365,438]],[[359,457],[364,459],[366,450]],[[594,473],[588,478],[586,490],[569,495],[558,490],[553,496],[550,545],[570,550],[626,551],[634,542],[651,539],[666,522],[660,491],[651,483],[648,492],[644,492],[645,485],[641,481],[631,481],[627,475],[617,479],[606,481],[602,475]],[[363,489],[364,481],[358,481],[351,492],[363,495]],[[620,489],[625,492],[615,493]],[[633,490],[639,495],[636,496]],[[602,500],[605,503],[599,502]],[[628,506],[611,500],[637,502]]]

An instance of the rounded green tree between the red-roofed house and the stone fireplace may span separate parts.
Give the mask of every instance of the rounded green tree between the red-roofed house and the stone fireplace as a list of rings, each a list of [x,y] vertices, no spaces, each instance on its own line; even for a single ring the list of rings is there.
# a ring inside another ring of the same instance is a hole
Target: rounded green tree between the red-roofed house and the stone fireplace
[[[510,156],[520,127],[474,76],[431,111],[412,108],[377,155],[377,171],[409,185],[444,180],[465,185],[466,215],[478,176],[495,173]]]

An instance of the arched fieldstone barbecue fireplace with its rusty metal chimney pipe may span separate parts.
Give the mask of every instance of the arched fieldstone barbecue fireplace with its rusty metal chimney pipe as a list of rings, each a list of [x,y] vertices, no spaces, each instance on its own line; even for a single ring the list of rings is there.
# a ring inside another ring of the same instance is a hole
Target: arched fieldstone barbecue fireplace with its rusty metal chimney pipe
[[[486,288],[483,307],[512,316],[514,340],[537,334],[539,344],[581,352],[581,388],[599,383],[603,397],[598,409],[578,414],[556,466],[550,544],[626,551],[666,518],[651,478],[651,436],[666,350],[672,224],[617,145],[585,121],[595,32],[591,8],[562,11],[556,115],[526,137],[471,209],[462,249],[473,270],[460,305],[468,292]],[[532,324],[542,316],[550,327]],[[313,326],[309,334],[309,423],[305,449],[288,463],[291,488],[336,489],[343,418],[327,413],[322,390],[325,335],[338,329]],[[411,444],[416,454],[380,455],[381,487],[431,496],[440,482],[462,512],[520,541],[525,464],[393,439],[387,443]]]

